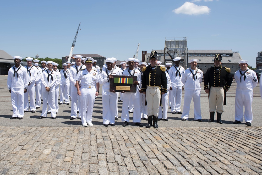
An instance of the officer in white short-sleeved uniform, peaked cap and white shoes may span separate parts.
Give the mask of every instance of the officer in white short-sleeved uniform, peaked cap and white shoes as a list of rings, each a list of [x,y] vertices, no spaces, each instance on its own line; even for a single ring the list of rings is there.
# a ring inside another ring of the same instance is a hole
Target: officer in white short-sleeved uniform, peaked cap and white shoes
[[[84,59],[86,69],[81,70],[75,78],[77,94],[80,96],[81,101],[79,112],[81,115],[82,125],[85,127],[87,125],[93,126],[93,107],[95,104],[95,96],[98,96],[96,88],[99,89],[100,76],[95,69],[92,69],[93,61],[93,58],[86,57]],[[79,85],[80,82],[81,85]]]

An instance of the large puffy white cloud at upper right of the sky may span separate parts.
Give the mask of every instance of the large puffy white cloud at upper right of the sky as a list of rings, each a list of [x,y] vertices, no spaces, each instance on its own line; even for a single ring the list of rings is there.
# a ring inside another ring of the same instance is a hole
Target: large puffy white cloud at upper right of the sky
[[[185,2],[181,7],[174,9],[172,12],[176,14],[201,15],[209,14],[210,8],[208,6],[197,6],[193,2]]]

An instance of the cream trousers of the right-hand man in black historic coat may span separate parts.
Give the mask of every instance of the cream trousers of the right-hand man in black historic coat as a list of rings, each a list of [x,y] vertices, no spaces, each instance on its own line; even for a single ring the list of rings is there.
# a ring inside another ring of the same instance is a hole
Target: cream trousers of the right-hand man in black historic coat
[[[209,112],[224,112],[225,91],[223,87],[210,87],[209,90]]]

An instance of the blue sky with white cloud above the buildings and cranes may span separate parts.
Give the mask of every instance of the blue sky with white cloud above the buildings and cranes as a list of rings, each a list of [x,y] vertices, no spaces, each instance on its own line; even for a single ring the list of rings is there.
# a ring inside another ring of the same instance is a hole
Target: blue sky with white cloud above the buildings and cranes
[[[187,37],[188,49],[239,51],[255,67],[261,46],[260,0],[3,1],[0,50],[11,56],[61,58],[100,54],[125,60]]]

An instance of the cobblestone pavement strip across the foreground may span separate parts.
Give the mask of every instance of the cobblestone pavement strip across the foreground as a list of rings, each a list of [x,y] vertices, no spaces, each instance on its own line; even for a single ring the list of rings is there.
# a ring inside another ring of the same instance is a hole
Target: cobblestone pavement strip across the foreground
[[[262,174],[262,127],[0,127],[0,174]]]

